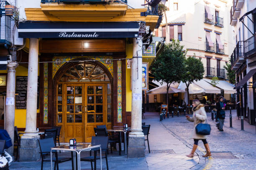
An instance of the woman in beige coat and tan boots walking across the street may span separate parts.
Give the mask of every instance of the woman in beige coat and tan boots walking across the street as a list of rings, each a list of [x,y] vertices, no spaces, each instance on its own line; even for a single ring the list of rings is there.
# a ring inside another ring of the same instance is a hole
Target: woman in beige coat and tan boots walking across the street
[[[207,115],[205,112],[205,105],[201,104],[200,101],[196,99],[196,100],[193,100],[192,106],[193,106],[192,108],[193,117],[189,117],[188,115],[186,115],[186,117],[187,117],[187,120],[189,120],[190,122],[194,122],[194,128],[191,135],[192,139],[194,139],[194,146],[192,148],[191,153],[187,155],[187,157],[193,158],[195,150],[197,150],[197,145],[199,140],[202,140],[206,149],[206,155],[203,155],[203,157],[211,156],[210,148],[206,141],[207,136],[197,134],[195,129],[197,127],[197,124],[205,123],[205,120],[207,119]]]

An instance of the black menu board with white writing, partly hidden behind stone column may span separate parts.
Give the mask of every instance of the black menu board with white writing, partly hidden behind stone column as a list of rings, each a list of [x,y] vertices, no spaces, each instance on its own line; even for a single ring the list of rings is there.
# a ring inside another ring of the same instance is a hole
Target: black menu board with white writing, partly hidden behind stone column
[[[15,108],[26,109],[28,76],[16,76]],[[37,82],[37,108],[39,108],[39,77]]]

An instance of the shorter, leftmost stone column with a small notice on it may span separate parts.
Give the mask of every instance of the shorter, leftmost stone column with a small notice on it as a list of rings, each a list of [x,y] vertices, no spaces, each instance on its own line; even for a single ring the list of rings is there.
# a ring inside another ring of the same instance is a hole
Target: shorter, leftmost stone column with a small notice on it
[[[18,67],[17,62],[10,62],[7,64],[8,80],[6,86],[6,98],[11,101],[6,105],[5,111],[5,130],[7,130],[12,143],[14,141],[14,112],[15,112],[15,72]],[[13,155],[13,146],[7,149],[10,155]]]

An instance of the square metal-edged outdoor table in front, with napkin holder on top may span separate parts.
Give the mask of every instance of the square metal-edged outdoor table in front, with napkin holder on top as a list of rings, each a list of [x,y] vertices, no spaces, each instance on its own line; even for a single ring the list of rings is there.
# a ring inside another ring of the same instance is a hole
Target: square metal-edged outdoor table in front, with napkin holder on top
[[[52,170],[52,150],[66,150],[66,151],[71,151],[73,153],[77,153],[77,158],[76,154],[73,154],[73,162],[74,162],[74,170],[80,170],[81,168],[81,161],[80,161],[80,153],[84,150],[91,150],[92,148],[100,148],[100,170],[102,170],[102,163],[101,163],[101,147],[100,145],[94,145],[92,146],[90,143],[79,143],[76,146],[70,146],[68,145],[61,145],[61,146],[55,146],[51,148],[51,170]],[[76,160],[78,159],[77,167],[76,167]],[[95,165],[96,168],[96,165]]]

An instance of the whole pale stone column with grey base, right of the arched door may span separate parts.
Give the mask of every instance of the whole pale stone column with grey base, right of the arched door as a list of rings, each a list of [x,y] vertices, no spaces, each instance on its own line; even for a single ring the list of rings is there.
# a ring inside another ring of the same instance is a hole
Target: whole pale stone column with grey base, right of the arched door
[[[144,157],[145,141],[141,128],[142,112],[142,40],[133,38],[132,74],[132,112],[131,132],[128,141],[128,157]]]

